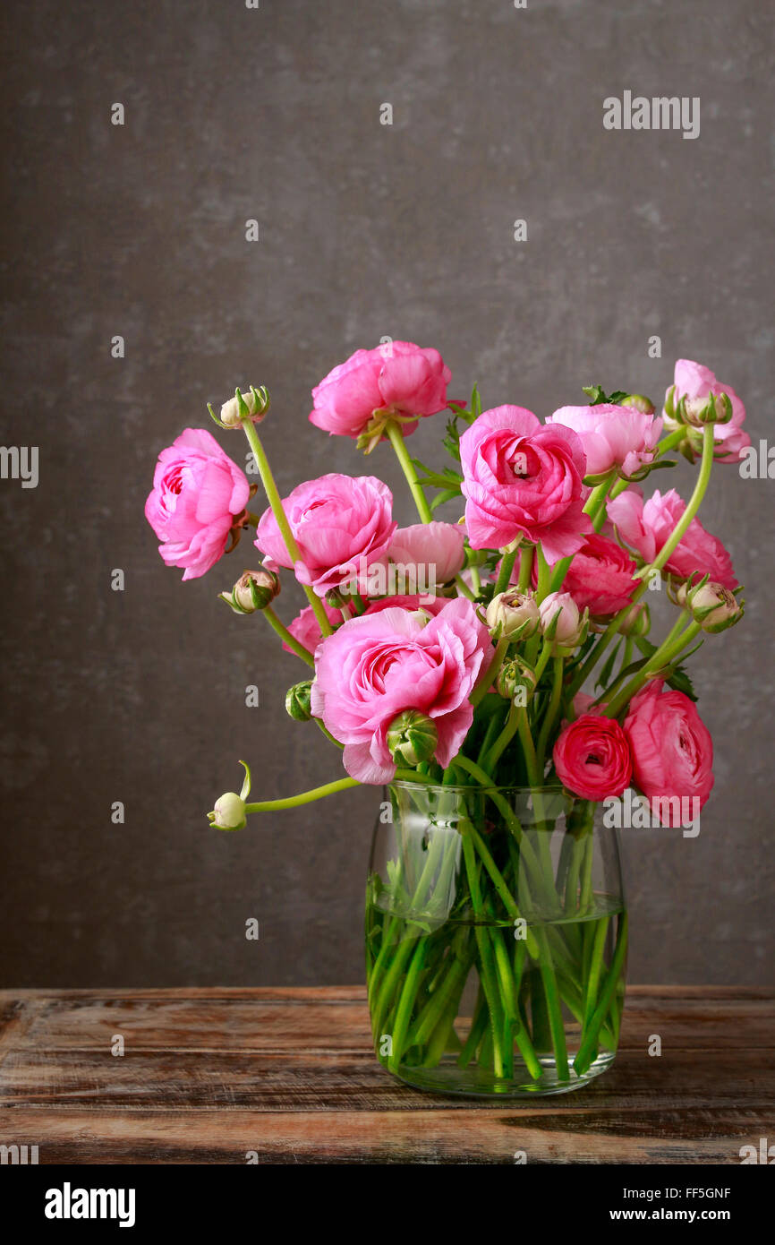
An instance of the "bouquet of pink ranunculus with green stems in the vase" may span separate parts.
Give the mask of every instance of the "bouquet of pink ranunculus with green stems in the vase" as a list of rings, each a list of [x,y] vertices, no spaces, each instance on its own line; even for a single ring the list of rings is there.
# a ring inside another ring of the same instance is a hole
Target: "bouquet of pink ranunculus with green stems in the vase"
[[[387,1066],[429,1067],[450,1050],[459,1062],[471,1045],[469,1061],[503,1081],[516,1043],[537,1082],[536,1051],[547,1046],[559,1081],[567,1082],[585,1074],[606,1033],[608,1041],[616,1035],[618,979],[610,977],[622,971],[624,930],[606,964],[602,935],[562,935],[544,946],[527,920],[520,970],[519,956],[504,962],[495,936],[483,941],[478,929],[458,936],[460,923],[466,913],[473,925],[484,916],[509,925],[521,919],[522,868],[534,900],[542,895],[595,924],[583,850],[573,853],[596,806],[634,789],[657,822],[688,825],[708,799],[713,746],[683,662],[707,634],[736,622],[743,603],[728,552],[697,514],[714,462],[739,462],[749,444],[745,411],[730,386],[688,360],[677,362],[661,415],[641,395],[590,386],[587,405],[561,407],[541,423],[520,406],[483,411],[475,387],[468,405],[450,400],[449,381],[438,351],[394,341],[356,351],[312,391],[316,427],[353,438],[366,454],[391,443],[417,524],[397,525],[391,491],[374,476],[331,473],[281,498],[258,432],[269,395],[253,386],[236,390],[220,417],[211,407],[210,415],[248,437],[264,513],[246,508],[255,486],[215,438],[188,428],[159,456],[146,514],[164,561],[184,568],[184,579],[205,574],[255,528],[261,565],[221,596],[238,614],[262,614],[309,667],[287,692],[287,712],[315,722],[342,753],[343,776],[258,803],[248,799],[250,771],[241,762],[243,789],[215,802],[215,827],[241,829],[251,814],[358,783],[387,786],[396,813],[407,792],[463,793],[454,850],[463,840],[464,865],[458,854],[445,874],[447,848],[433,865],[424,860],[425,880],[433,875],[435,885],[444,875],[454,931],[438,937],[438,921],[428,928],[430,890],[425,883],[418,890],[406,852],[403,860],[397,852],[376,893],[369,883],[369,901],[388,914],[378,929],[372,923],[368,959],[374,1041],[379,1047],[388,1033]],[[442,411],[449,457],[435,469],[412,457],[407,438],[420,418]],[[699,463],[692,496],[684,502],[674,489],[656,491],[644,500],[639,484],[674,464],[671,451]],[[434,519],[438,507],[455,502],[457,522]],[[284,570],[309,600],[287,624],[274,609]],[[653,640],[646,594],[662,586],[675,616]],[[514,803],[496,794],[503,789],[534,793],[536,830],[556,824],[552,796],[565,802],[572,850],[560,864],[542,840],[529,849]],[[489,801],[488,793],[495,804],[478,827],[471,801]],[[417,801],[413,807],[417,813]],[[444,822],[438,806],[427,820]],[[425,835],[425,857],[428,849]],[[412,928],[397,942],[388,926],[399,910]],[[413,950],[404,956],[397,947],[407,939]],[[407,986],[406,965],[420,946]],[[464,967],[476,971],[480,987],[466,1042],[453,1026]],[[522,979],[531,967],[541,998],[530,1007]],[[561,1008],[578,1026],[570,1071]]]

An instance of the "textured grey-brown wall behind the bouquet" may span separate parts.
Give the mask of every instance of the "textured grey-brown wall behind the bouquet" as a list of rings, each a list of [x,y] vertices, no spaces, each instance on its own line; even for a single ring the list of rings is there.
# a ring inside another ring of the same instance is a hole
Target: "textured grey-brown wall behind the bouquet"
[[[340,761],[285,716],[295,659],[215,600],[250,545],[185,585],[162,564],[142,515],[155,456],[253,381],[284,491],[358,474],[351,442],[306,423],[309,391],[386,334],[437,346],[453,396],[478,380],[486,405],[541,415],[588,381],[658,397],[689,356],[771,437],[769,7],[4,6],[2,436],[41,452],[37,489],[0,486],[4,985],[361,980],[374,793],[238,835],[204,819],[240,756],[256,798]],[[700,137],[603,131],[624,88],[700,96]],[[439,432],[424,422],[420,457]],[[367,469],[411,522],[389,449]],[[695,659],[717,747],[699,838],[626,843],[634,980],[771,977],[774,491],[723,467],[703,514],[749,610]],[[286,590],[285,616],[296,604]]]

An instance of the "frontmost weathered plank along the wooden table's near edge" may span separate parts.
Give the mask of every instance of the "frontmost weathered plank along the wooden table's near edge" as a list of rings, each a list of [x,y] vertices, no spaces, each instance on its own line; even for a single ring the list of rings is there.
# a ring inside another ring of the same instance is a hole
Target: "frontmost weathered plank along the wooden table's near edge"
[[[639,1112],[623,1132],[607,1113],[521,1116],[504,1111],[106,1112],[67,1109],[0,1113],[0,1129],[37,1144],[40,1163],[508,1163],[524,1150],[536,1163],[735,1163],[758,1144],[759,1123],[714,1117],[708,1130],[683,1135],[684,1116],[666,1127],[658,1109]]]

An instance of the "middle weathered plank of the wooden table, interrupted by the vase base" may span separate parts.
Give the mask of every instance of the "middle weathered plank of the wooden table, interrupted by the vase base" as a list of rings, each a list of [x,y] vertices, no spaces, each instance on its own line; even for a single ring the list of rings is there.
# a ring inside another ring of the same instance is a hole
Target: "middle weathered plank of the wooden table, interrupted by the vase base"
[[[766,1052],[755,1052],[745,1061],[736,1052],[723,1051],[677,1052],[658,1058],[646,1051],[623,1052],[605,1077],[590,1083],[583,1098],[585,1103],[616,1101],[626,1111],[639,1111],[656,1098],[666,1111],[709,1104],[764,1108],[773,1101],[770,1068]],[[455,1101],[401,1084],[371,1052],[289,1056],[128,1050],[114,1058],[107,1051],[93,1056],[81,1051],[20,1051],[6,1057],[0,1083],[4,1107],[411,1112],[449,1111]],[[466,1106],[491,1109],[488,1099],[466,1099]]]

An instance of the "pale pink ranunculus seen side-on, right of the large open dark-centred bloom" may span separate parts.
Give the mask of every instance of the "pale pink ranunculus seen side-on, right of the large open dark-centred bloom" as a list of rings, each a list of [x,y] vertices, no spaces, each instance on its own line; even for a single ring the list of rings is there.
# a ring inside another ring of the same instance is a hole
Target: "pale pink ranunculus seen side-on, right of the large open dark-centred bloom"
[[[581,437],[587,456],[587,476],[601,476],[618,467],[623,476],[649,463],[662,432],[662,418],[631,406],[561,406],[546,420],[572,428]]]

